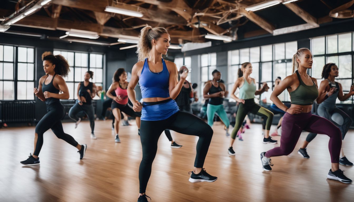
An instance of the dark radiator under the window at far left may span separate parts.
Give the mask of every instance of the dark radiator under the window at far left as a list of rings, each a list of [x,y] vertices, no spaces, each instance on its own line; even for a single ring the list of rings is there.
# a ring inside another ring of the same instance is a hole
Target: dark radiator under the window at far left
[[[2,101],[0,102],[0,123],[34,122],[35,101]]]

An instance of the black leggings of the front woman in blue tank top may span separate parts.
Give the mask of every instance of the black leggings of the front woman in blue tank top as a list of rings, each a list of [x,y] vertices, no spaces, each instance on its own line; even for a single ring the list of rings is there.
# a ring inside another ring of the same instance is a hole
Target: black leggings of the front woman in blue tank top
[[[169,118],[160,121],[141,121],[140,140],[143,159],[139,167],[140,193],[144,193],[148,184],[151,167],[156,156],[159,137],[165,129],[199,137],[196,146],[194,167],[202,168],[209,149],[213,130],[198,117],[187,112],[178,111]]]

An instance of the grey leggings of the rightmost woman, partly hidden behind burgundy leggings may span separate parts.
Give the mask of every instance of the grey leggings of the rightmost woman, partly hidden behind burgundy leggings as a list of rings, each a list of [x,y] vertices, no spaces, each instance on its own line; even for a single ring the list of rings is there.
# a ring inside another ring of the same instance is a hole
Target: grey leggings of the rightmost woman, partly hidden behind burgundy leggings
[[[325,104],[320,104],[317,109],[317,114],[330,120],[334,125],[336,125],[342,133],[342,139],[349,130],[350,125],[352,125],[352,119],[342,110],[336,108],[336,106],[329,106]],[[307,142],[311,142],[317,133],[309,133],[306,137]]]

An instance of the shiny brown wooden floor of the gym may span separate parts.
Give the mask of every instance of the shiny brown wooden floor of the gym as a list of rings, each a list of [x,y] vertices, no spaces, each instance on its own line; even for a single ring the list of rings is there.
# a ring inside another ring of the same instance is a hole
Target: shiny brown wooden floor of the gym
[[[138,168],[142,157],[137,128],[120,127],[121,143],[114,142],[111,120],[96,121],[97,140],[90,139],[89,122],[63,123],[64,131],[80,144],[87,144],[86,156],[79,160],[76,148],[57,139],[48,131],[40,153],[39,166],[24,166],[33,152],[34,127],[0,129],[0,201],[118,201],[135,202],[139,191]],[[275,126],[272,126],[274,129]],[[190,183],[195,145],[198,138],[172,132],[180,149],[171,149],[161,135],[153,163],[147,195],[152,202],[190,201],[306,201],[346,202],[354,200],[353,184],[328,180],[331,167],[329,137],[318,135],[308,146],[310,159],[297,154],[307,133],[300,137],[289,156],[273,157],[273,171],[262,169],[259,154],[274,146],[262,144],[261,125],[246,130],[244,141],[236,140],[236,156],[227,153],[229,138],[216,123],[204,167],[218,177],[213,183]],[[354,161],[354,131],[346,136],[346,156]],[[275,137],[280,140],[280,137]],[[340,166],[347,177],[354,179],[354,167]],[[149,200],[150,201],[150,200]]]

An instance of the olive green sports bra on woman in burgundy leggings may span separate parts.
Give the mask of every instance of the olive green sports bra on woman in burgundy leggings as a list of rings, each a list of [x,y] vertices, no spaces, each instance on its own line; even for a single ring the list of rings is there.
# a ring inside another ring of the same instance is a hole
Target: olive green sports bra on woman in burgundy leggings
[[[290,92],[291,104],[297,105],[311,105],[313,101],[318,97],[318,89],[313,82],[312,86],[306,85],[300,77],[299,72],[296,70],[297,77],[299,78],[300,84],[295,91]]]

